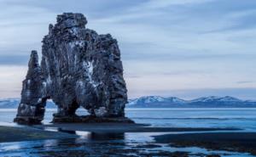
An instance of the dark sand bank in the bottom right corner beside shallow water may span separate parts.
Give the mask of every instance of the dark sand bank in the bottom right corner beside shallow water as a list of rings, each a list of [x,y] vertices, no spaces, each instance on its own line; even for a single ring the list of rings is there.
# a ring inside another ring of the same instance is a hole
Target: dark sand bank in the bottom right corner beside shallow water
[[[175,147],[201,147],[256,155],[256,132],[214,132],[167,134],[154,137],[157,143]]]

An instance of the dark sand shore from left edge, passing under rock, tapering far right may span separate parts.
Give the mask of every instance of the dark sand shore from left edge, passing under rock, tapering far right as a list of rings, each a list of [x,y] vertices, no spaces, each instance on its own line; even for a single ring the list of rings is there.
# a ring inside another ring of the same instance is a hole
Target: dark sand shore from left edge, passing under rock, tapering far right
[[[34,126],[0,126],[0,143],[33,141],[41,139],[76,138],[74,132],[125,133],[125,132],[212,132],[239,131],[237,128],[190,128],[154,127],[146,124],[130,123],[87,123],[87,124],[50,124]],[[73,132],[73,133],[71,133]],[[165,134],[166,135],[166,134]]]

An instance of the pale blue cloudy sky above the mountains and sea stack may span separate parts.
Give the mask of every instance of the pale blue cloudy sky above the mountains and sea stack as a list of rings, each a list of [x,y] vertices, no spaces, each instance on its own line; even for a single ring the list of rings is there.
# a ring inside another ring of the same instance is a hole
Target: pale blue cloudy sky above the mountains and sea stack
[[[119,42],[128,97],[256,100],[256,1],[0,0],[0,98],[19,98],[31,50],[57,14]]]

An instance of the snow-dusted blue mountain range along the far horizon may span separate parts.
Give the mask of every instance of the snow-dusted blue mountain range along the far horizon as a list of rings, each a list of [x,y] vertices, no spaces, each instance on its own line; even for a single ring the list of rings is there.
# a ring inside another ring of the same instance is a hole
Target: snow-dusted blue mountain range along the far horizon
[[[16,109],[20,98],[0,99],[0,109]],[[54,109],[56,105],[48,101],[47,108]],[[130,99],[127,108],[256,108],[256,101],[241,100],[230,96],[202,97],[184,100],[176,97],[146,96]]]

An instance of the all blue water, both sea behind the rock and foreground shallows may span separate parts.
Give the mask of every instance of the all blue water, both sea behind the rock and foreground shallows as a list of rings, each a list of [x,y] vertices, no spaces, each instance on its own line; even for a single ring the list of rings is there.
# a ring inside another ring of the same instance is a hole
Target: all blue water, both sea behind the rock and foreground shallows
[[[55,109],[46,109],[44,123],[52,120]],[[0,109],[0,125],[15,126],[16,109]],[[78,115],[87,115],[84,109],[77,111]],[[137,123],[151,126],[173,127],[234,127],[243,129],[239,132],[256,132],[256,109],[125,109],[127,117]],[[153,135],[160,132],[140,133],[96,133],[74,132],[76,139],[42,140],[32,142],[0,143],[0,156],[113,156],[114,154],[140,156],[148,152],[189,151],[196,154],[222,154],[230,157],[252,157],[227,151],[210,151],[196,147],[174,148],[163,143],[154,143]],[[154,143],[157,148],[143,148],[143,144]],[[140,149],[137,149],[140,148]],[[137,152],[133,149],[137,149]],[[131,151],[129,151],[131,150]],[[121,151],[121,152],[120,152]]]

